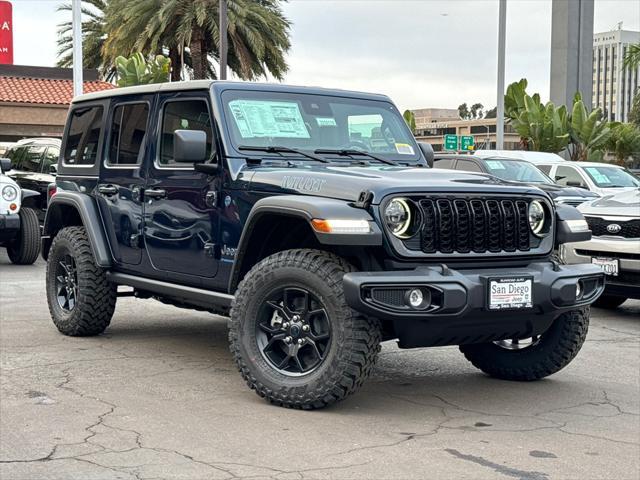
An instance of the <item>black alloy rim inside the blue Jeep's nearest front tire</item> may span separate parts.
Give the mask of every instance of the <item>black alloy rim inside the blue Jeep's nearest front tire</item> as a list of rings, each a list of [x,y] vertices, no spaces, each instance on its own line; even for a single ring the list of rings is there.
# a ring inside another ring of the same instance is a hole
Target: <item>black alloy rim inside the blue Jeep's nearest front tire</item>
[[[315,371],[331,343],[327,310],[313,293],[298,287],[272,291],[256,323],[264,359],[277,372],[301,376]]]

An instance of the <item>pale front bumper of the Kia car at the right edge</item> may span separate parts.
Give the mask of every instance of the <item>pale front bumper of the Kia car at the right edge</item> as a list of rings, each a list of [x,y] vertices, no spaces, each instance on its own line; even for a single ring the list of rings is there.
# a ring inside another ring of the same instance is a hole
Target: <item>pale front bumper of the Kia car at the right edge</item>
[[[619,272],[607,276],[606,293],[640,298],[640,239],[592,237],[587,242],[562,245],[559,255],[567,264],[591,263],[593,257],[617,258]]]

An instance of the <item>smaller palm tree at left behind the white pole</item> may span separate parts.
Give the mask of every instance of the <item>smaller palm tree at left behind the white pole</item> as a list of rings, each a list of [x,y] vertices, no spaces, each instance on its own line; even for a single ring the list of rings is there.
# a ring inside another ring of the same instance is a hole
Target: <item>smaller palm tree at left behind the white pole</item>
[[[102,46],[106,38],[105,10],[106,0],[84,0],[82,5],[82,63],[84,68],[104,67]],[[58,11],[71,12],[71,4],[65,3]],[[71,14],[69,14],[71,15]],[[71,21],[58,25],[58,67],[73,65],[73,37]],[[110,68],[106,69],[111,70]],[[107,73],[104,72],[103,73]],[[108,75],[107,75],[108,76]]]

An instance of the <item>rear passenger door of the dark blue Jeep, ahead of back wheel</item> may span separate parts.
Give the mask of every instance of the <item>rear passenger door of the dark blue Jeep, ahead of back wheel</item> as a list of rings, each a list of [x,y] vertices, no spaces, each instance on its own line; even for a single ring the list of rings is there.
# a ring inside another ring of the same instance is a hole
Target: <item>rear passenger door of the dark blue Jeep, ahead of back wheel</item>
[[[153,99],[153,95],[114,97],[107,116],[96,198],[114,259],[124,266],[142,259],[142,189]]]

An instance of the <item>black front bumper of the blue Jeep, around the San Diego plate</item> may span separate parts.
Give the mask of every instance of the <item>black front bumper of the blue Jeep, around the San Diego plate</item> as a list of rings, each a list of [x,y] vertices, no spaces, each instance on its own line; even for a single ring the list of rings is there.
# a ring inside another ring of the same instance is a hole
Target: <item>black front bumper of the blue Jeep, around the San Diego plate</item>
[[[490,279],[531,277],[533,307],[489,310]],[[576,284],[582,295],[576,298]],[[433,305],[413,310],[397,290],[421,287]],[[560,314],[594,302],[604,290],[604,274],[590,264],[536,262],[521,268],[452,270],[446,266],[390,272],[354,272],[344,276],[351,308],[392,321],[403,348],[484,343],[542,334]],[[399,301],[400,300],[400,301]]]

